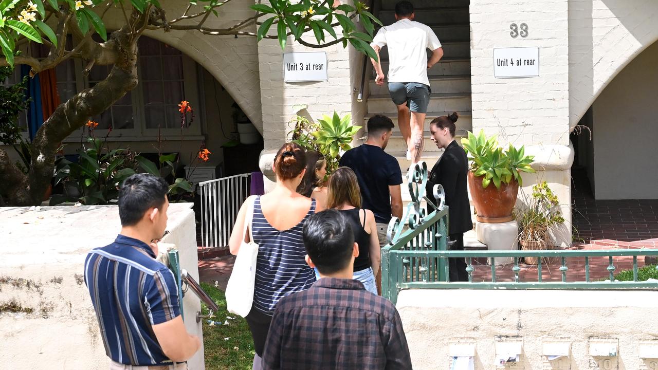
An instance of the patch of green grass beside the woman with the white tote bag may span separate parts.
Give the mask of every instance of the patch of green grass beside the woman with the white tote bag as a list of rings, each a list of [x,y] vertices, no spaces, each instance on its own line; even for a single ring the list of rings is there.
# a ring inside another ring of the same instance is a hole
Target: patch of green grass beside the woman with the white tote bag
[[[208,319],[203,319],[203,348],[205,350],[206,369],[251,370],[255,352],[247,321],[226,311],[226,298],[222,290],[205,282],[201,283],[201,288],[213,298],[220,309],[219,312],[213,313],[215,317],[211,320],[222,323],[222,325],[211,327],[208,324]],[[208,314],[208,307],[203,302],[201,302],[201,312],[203,312],[203,315]],[[235,319],[227,319],[227,316]],[[228,321],[228,325],[223,325],[225,321]]]

